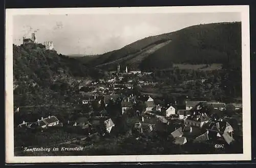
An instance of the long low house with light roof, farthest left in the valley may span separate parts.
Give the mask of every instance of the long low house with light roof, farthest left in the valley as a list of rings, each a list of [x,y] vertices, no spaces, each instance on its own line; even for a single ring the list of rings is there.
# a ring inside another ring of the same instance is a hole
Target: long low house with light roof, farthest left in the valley
[[[47,118],[37,119],[37,122],[31,124],[32,127],[41,127],[41,128],[47,128],[47,127],[53,127],[59,124],[59,120],[56,116],[48,116]]]

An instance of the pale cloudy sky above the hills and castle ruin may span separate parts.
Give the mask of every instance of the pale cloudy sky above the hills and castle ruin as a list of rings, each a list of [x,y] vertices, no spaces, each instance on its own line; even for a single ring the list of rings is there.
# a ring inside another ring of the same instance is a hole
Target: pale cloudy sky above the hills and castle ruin
[[[189,26],[241,21],[240,13],[140,13],[16,15],[13,43],[35,36],[39,43],[53,41],[57,53],[103,54],[139,39],[174,32]]]

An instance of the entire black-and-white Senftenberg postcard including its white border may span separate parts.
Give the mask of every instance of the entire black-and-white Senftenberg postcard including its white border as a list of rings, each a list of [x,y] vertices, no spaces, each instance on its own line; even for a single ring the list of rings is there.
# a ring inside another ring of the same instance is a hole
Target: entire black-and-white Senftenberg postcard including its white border
[[[248,6],[7,9],[5,57],[7,161],[251,159]]]

